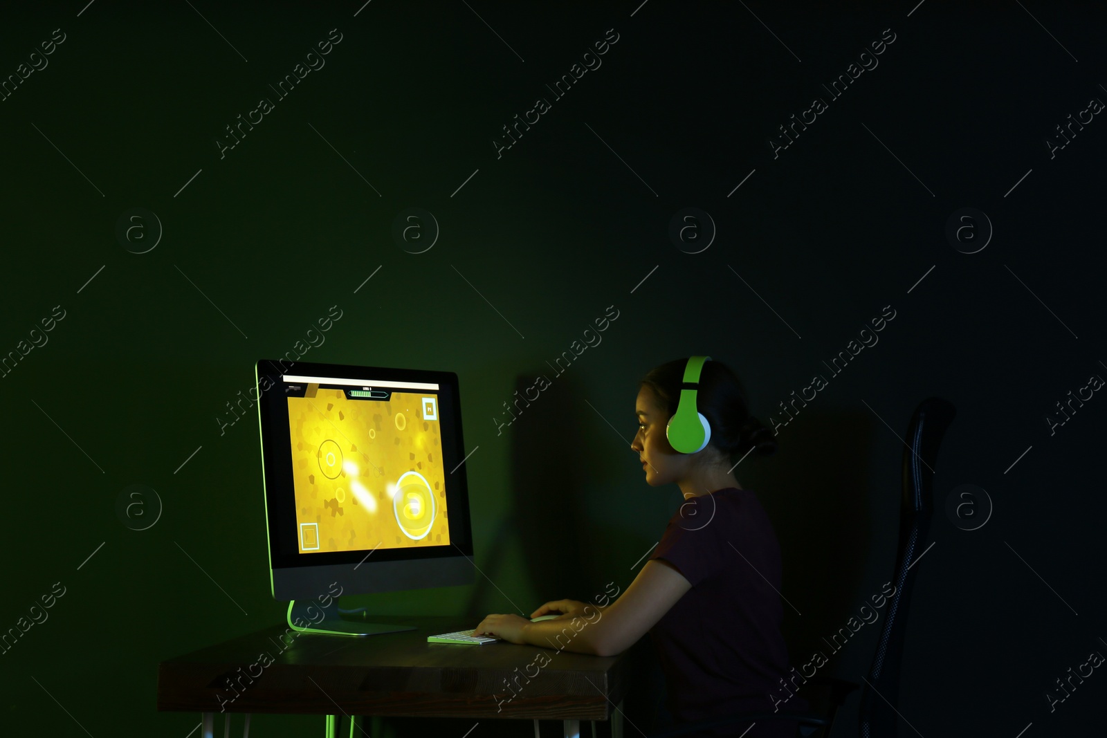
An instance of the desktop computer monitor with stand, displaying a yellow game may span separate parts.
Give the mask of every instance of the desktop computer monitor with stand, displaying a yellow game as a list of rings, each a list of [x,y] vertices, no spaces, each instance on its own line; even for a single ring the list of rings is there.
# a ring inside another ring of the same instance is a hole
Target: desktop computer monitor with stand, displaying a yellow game
[[[255,372],[271,591],[291,627],[411,631],[342,617],[338,597],[473,583],[455,373],[287,360]]]

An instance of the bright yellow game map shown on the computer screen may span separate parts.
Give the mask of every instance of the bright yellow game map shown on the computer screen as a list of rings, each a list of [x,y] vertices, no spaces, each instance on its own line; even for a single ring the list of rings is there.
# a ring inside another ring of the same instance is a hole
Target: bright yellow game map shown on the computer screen
[[[288,398],[300,551],[448,544],[437,396],[346,392]]]

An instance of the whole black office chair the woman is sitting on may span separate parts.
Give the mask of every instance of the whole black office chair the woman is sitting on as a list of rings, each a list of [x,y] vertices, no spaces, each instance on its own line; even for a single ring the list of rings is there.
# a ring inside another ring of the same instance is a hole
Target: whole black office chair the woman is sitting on
[[[888,738],[897,735],[896,721],[899,716],[896,708],[899,699],[900,655],[903,652],[903,638],[907,633],[911,589],[918,572],[913,569],[913,564],[925,541],[934,510],[933,477],[938,449],[955,415],[956,409],[951,403],[940,397],[928,397],[919,404],[908,424],[904,439],[908,448],[903,451],[899,544],[896,553],[896,593],[888,602],[883,628],[865,685],[832,677],[815,677],[808,679],[808,683],[798,690],[811,707],[807,713],[785,710],[738,713],[722,718],[679,724],[651,732],[649,738],[673,738],[707,728],[727,725],[739,727],[762,720],[796,720],[800,736],[811,736],[820,728],[824,729],[821,735],[828,736],[838,708],[847,695],[858,686],[861,687],[858,719],[860,738]],[[738,732],[741,730],[735,735]]]

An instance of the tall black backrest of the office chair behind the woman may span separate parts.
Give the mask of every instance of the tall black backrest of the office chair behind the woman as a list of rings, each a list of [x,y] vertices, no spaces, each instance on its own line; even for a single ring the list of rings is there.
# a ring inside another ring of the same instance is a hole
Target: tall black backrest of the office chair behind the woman
[[[896,552],[896,593],[890,597],[877,653],[866,684],[861,685],[861,738],[897,735],[900,657],[907,633],[907,614],[918,569],[925,552],[927,532],[934,510],[933,477],[938,448],[956,408],[940,397],[922,401],[908,425],[903,451],[903,488],[900,499],[899,545]],[[877,694],[873,694],[876,692]]]

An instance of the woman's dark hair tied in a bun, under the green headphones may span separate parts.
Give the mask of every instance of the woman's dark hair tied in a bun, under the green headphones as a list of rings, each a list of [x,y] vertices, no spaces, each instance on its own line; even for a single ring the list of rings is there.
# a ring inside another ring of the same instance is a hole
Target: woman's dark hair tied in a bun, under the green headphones
[[[649,387],[661,402],[666,417],[676,413],[681,399],[681,384],[687,358],[677,358],[656,366],[645,375],[641,387]],[[731,464],[753,448],[755,454],[768,456],[777,450],[773,433],[749,414],[745,387],[726,364],[714,360],[704,362],[696,392],[696,407],[711,424],[708,447],[728,456]]]

